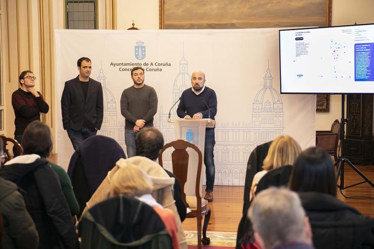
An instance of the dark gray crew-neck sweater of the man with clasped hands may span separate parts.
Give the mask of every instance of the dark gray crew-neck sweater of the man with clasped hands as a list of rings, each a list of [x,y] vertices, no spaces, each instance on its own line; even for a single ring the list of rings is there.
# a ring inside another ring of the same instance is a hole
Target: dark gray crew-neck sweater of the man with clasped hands
[[[152,127],[157,103],[157,94],[152,86],[130,86],[124,89],[121,95],[121,114],[125,117],[125,129],[132,130],[138,119],[146,121],[145,127]]]

